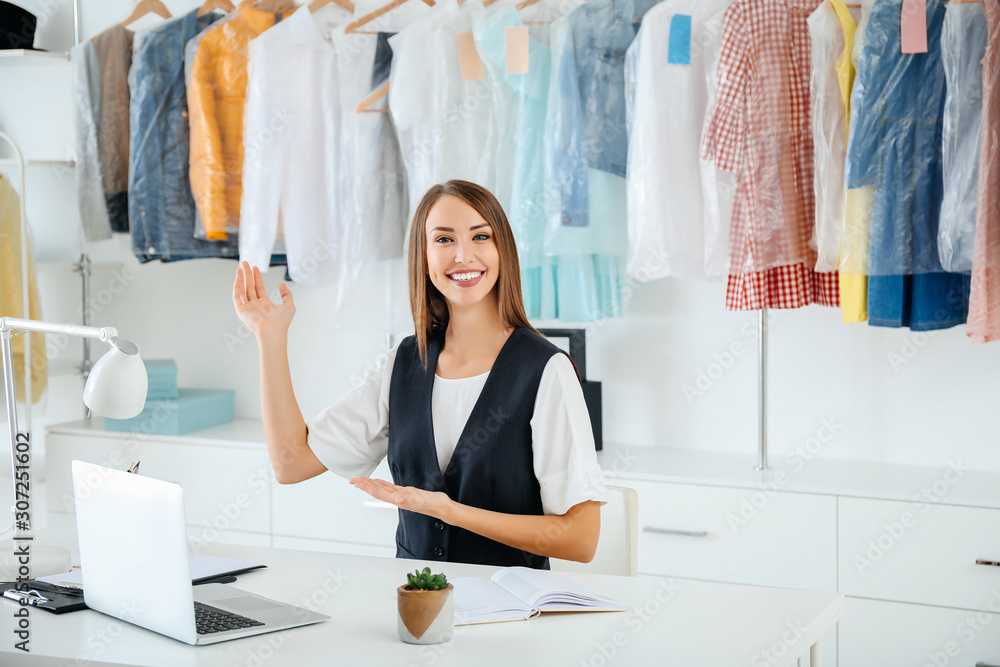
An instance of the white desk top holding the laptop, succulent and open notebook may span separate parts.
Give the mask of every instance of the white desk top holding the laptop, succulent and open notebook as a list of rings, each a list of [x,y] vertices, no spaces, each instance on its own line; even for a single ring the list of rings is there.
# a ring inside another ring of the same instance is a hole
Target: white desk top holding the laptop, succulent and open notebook
[[[75,557],[74,533],[71,524],[56,518],[40,538],[45,544],[69,547]],[[838,593],[585,575],[581,578],[631,610],[545,614],[530,621],[465,626],[456,628],[455,638],[446,644],[412,646],[396,636],[396,587],[405,581],[406,572],[423,567],[422,561],[234,545],[214,545],[206,553],[265,563],[267,570],[241,575],[237,585],[314,609],[332,620],[196,647],[90,610],[61,616],[35,610],[30,616],[31,656],[44,665],[151,667],[781,667],[808,655],[813,644],[828,636],[844,609],[844,596]],[[486,577],[496,569],[430,565],[456,578]],[[0,602],[0,664],[31,665],[31,659],[13,649],[16,608],[13,602]]]

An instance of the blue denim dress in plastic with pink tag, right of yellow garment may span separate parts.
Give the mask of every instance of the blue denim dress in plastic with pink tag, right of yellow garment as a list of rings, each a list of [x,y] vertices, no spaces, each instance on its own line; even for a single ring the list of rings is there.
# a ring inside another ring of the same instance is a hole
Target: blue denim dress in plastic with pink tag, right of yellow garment
[[[965,321],[968,276],[938,258],[945,75],[944,5],[928,0],[928,52],[903,54],[902,0],[878,0],[865,28],[851,97],[845,178],[876,186],[869,255],[868,321],[942,329]]]

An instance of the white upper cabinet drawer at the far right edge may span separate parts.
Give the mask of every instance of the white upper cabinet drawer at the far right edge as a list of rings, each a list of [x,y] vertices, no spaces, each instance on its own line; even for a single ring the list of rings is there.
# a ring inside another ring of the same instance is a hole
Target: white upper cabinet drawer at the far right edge
[[[846,595],[1000,611],[1000,510],[840,498]]]

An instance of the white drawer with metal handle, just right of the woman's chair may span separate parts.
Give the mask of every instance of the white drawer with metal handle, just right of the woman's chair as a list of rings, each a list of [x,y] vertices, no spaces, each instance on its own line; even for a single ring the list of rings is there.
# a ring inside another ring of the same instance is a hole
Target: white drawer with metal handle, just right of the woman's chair
[[[832,496],[623,481],[639,494],[639,571],[837,589]]]

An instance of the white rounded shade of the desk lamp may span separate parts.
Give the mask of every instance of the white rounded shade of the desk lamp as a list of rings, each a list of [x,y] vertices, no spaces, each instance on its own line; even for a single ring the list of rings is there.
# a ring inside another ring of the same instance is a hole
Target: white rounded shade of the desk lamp
[[[102,417],[130,419],[142,412],[149,380],[135,343],[112,338],[83,388],[84,404]]]

